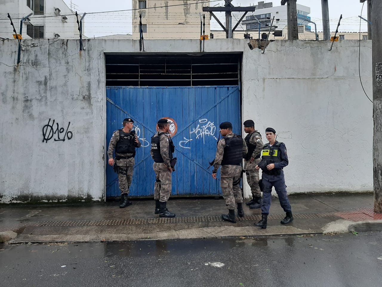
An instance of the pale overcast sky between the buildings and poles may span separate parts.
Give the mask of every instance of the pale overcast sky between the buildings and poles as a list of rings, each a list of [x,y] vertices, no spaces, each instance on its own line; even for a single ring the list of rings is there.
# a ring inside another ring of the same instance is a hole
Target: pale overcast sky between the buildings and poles
[[[258,0],[233,0],[231,3],[235,6],[244,7],[253,4],[256,5],[257,1]],[[64,2],[70,6],[70,0],[64,0]],[[269,2],[272,2],[274,7],[281,5],[280,0],[265,0],[265,3]],[[132,6],[131,0],[73,0],[72,3],[77,5],[76,10],[80,13],[129,10]],[[105,5],[105,3],[107,3],[107,5]],[[189,0],[188,3],[193,3],[193,0]],[[214,3],[211,3],[210,6],[214,6],[219,3],[220,6],[223,6],[224,1],[214,1]],[[311,8],[311,14],[309,16],[311,17],[312,21],[316,22],[317,30],[322,31],[321,0],[297,0],[297,3]],[[362,3],[359,3],[359,0],[329,0],[330,30],[335,31],[338,19],[342,14],[343,18],[341,20],[341,25],[338,31],[359,31],[360,21],[358,15],[361,15],[361,8]],[[131,11],[86,15],[84,34],[89,38],[113,34],[131,34],[131,15]],[[248,13],[247,15],[250,14]],[[366,3],[362,11],[362,16],[367,18]],[[176,17],[176,15],[174,15],[174,17]],[[223,20],[225,17],[222,14],[220,17],[218,16],[218,18],[222,18]],[[219,24],[217,24],[214,20],[211,21],[211,29],[220,29],[219,27]],[[363,20],[361,21],[361,31],[367,31],[367,24]]]

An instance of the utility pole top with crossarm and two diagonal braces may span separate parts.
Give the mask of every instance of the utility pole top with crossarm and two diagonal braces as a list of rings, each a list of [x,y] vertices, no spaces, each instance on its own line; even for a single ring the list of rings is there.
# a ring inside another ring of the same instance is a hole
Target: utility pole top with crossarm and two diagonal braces
[[[211,16],[215,18],[217,23],[223,28],[226,38],[231,38],[233,31],[239,26],[241,20],[247,15],[248,12],[254,12],[255,7],[234,7],[231,4],[232,0],[224,0],[224,7],[203,7],[203,12],[210,12]],[[219,21],[219,19],[215,16],[214,12],[225,12],[225,26]],[[235,27],[232,27],[232,15],[231,12],[245,12],[243,16],[241,16],[238,23],[236,23]]]

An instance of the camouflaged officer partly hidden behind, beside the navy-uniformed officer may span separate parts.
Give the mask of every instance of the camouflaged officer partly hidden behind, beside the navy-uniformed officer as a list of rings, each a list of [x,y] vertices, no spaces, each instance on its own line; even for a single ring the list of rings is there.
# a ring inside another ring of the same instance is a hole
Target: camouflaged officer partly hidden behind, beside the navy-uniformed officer
[[[261,207],[261,191],[259,187],[259,170],[256,165],[261,161],[261,151],[263,142],[261,134],[255,130],[255,123],[252,120],[244,122],[245,143],[248,147],[248,153],[244,157],[244,169],[249,187],[251,188],[252,200],[247,202],[249,208],[256,209]]]

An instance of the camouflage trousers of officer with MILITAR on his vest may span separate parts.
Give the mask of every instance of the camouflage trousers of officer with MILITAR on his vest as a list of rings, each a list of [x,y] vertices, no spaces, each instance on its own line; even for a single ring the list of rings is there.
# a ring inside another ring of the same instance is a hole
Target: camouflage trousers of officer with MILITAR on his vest
[[[154,199],[159,199],[160,202],[167,202],[172,189],[171,172],[163,163],[154,163],[154,171]]]

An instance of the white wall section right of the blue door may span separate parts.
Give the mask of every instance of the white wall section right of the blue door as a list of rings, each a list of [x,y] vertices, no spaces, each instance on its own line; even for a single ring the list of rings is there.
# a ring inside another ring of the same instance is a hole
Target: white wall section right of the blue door
[[[360,72],[372,96],[371,42]],[[358,41],[275,41],[244,53],[243,119],[286,144],[288,192],[372,191],[372,103],[358,73]],[[253,50],[255,51],[255,50]]]

